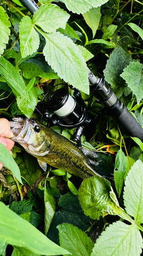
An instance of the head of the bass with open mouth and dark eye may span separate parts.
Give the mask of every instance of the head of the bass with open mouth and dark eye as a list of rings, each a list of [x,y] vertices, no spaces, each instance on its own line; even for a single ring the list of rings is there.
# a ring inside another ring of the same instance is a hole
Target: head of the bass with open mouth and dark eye
[[[22,145],[34,156],[45,156],[49,153],[51,137],[45,125],[34,118],[15,117],[11,123],[13,140]]]

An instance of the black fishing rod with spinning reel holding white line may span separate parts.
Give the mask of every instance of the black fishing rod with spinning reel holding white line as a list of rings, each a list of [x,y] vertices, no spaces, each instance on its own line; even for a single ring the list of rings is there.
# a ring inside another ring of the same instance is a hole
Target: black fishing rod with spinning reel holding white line
[[[32,13],[39,9],[34,0],[20,0],[20,2]],[[85,106],[79,90],[74,90],[71,97],[68,90],[59,89],[48,99],[47,106],[54,113],[44,113],[43,118],[53,125],[60,125],[67,129],[75,128],[73,140],[81,145],[81,135],[84,127],[96,124],[101,116],[112,116],[121,124],[131,137],[137,137],[143,142],[143,129],[132,116],[126,106],[112,92],[104,78],[96,77],[88,68],[90,91],[100,101],[104,109],[99,111],[95,118],[91,116]]]

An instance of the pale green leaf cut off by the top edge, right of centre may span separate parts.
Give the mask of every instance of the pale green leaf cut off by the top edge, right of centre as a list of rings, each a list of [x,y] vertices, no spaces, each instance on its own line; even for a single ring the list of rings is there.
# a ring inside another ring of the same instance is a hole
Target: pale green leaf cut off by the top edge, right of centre
[[[80,14],[89,11],[92,7],[99,7],[108,0],[63,0],[69,11]]]

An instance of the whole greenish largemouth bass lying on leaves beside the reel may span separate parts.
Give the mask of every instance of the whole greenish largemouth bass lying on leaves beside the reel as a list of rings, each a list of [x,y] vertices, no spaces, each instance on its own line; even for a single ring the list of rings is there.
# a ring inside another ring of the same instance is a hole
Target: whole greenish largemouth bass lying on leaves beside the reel
[[[38,159],[46,170],[47,164],[69,172],[82,179],[99,175],[93,164],[98,164],[98,155],[89,150],[81,150],[64,136],[54,132],[33,118],[13,118],[11,130],[13,140],[22,145],[29,154]],[[91,161],[88,159],[91,157]]]

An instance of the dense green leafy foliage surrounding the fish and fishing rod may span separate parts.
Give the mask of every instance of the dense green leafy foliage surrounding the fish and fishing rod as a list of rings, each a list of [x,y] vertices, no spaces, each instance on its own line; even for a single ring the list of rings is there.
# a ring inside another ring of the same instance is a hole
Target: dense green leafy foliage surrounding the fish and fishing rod
[[[1,117],[24,114],[50,126],[41,117],[52,116],[49,95],[64,88],[73,96],[73,86],[94,118],[103,105],[90,93],[88,66],[143,125],[142,3],[39,0],[38,6],[32,15],[19,0],[0,0]],[[13,157],[0,145],[0,255],[141,254],[143,144],[112,113],[81,137],[83,152],[98,154],[103,177],[82,181],[51,166],[43,172],[19,144]],[[51,129],[72,140],[74,129]]]

